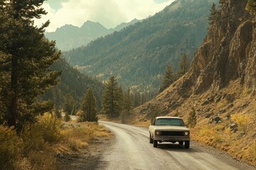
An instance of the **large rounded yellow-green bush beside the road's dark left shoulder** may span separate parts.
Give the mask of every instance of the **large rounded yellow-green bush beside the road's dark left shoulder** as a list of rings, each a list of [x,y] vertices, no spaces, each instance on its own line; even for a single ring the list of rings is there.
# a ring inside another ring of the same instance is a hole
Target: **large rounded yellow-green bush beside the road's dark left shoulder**
[[[56,160],[48,144],[60,140],[60,125],[61,120],[46,113],[23,131],[23,154],[35,169],[55,169]]]

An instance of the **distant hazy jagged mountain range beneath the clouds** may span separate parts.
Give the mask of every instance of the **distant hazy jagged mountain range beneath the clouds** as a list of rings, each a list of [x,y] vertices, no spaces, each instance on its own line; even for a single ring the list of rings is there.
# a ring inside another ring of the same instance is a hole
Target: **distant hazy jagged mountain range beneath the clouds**
[[[134,19],[129,23],[121,23],[116,28],[107,29],[100,23],[86,21],[82,27],[65,25],[57,28],[55,32],[46,33],[46,38],[56,40],[56,47],[62,51],[68,51],[82,45],[87,45],[92,40],[103,37],[114,31],[122,30],[122,28],[139,22]]]

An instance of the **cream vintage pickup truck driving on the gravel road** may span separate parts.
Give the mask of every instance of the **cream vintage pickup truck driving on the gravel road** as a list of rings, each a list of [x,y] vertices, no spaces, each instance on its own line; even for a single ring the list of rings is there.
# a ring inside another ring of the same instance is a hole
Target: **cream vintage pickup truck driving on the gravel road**
[[[156,117],[149,125],[149,142],[154,147],[158,146],[158,142],[178,142],[179,145],[185,143],[185,148],[189,148],[190,131],[181,118]]]

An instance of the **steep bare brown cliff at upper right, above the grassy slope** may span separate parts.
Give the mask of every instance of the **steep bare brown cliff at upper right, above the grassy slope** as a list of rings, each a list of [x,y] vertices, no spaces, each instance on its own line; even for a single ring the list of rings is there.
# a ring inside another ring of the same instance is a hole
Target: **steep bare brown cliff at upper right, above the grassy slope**
[[[217,12],[191,65],[188,79],[195,94],[209,88],[218,91],[235,79],[255,91],[256,24],[245,5],[246,1],[225,1]]]

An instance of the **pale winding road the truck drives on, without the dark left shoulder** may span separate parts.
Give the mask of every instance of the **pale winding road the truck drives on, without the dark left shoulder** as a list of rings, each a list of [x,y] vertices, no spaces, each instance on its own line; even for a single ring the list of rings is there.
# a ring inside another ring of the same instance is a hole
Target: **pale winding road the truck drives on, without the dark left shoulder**
[[[151,169],[202,169],[235,170],[254,169],[214,149],[201,147],[191,142],[190,149],[162,143],[154,148],[149,143],[147,128],[100,121],[115,137],[112,144],[102,153],[97,169],[106,170],[151,170]]]

